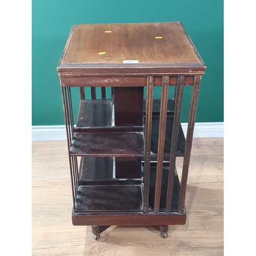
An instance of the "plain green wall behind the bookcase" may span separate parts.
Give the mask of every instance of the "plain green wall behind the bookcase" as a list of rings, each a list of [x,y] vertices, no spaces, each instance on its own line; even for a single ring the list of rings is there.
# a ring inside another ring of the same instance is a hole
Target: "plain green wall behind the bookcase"
[[[56,67],[73,25],[177,21],[207,67],[196,122],[222,122],[223,0],[33,0],[32,125],[64,124]],[[183,102],[190,88],[184,93]],[[184,115],[181,122],[187,122]]]

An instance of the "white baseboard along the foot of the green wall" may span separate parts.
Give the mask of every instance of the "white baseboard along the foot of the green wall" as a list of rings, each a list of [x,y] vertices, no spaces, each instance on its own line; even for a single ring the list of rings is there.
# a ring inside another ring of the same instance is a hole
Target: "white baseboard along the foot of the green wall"
[[[187,123],[181,123],[186,136]],[[194,138],[224,137],[224,122],[195,123]],[[32,140],[66,140],[65,125],[32,126]]]

